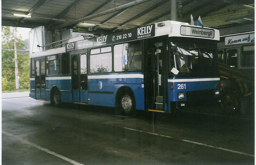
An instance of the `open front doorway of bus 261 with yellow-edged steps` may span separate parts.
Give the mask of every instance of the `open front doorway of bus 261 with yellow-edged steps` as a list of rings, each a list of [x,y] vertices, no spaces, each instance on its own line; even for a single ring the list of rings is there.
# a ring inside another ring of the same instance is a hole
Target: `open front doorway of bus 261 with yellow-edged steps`
[[[145,59],[145,98],[149,111],[164,111],[164,42],[148,40]]]

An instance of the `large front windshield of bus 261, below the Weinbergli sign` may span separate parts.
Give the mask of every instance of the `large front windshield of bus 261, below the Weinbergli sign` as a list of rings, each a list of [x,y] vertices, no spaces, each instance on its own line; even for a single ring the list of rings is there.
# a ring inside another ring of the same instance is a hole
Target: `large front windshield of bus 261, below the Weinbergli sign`
[[[173,41],[171,47],[173,61],[171,66],[179,71],[178,75],[218,76],[217,46],[215,42]]]

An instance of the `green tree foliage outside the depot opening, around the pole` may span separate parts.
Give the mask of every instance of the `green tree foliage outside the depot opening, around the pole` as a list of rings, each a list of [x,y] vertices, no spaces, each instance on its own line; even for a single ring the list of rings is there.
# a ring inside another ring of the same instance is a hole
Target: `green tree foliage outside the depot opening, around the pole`
[[[15,28],[16,30],[16,28]],[[21,36],[16,35],[17,49],[24,49],[25,44]],[[2,90],[15,90],[15,63],[13,29],[8,26],[2,26]],[[19,70],[19,88],[29,89],[29,54],[17,51],[18,70]]]

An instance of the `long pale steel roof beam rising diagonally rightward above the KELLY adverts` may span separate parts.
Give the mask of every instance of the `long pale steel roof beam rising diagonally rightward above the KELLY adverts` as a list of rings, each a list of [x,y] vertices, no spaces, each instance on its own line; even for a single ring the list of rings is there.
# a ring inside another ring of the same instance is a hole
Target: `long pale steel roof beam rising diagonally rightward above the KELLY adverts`
[[[102,15],[106,15],[106,14],[109,14],[109,13],[112,13],[112,12],[116,12],[118,10],[121,10],[121,9],[124,9],[124,8],[127,8],[127,7],[131,7],[131,6],[135,6],[137,4],[141,4],[141,3],[144,3],[144,2],[147,2],[147,1],[150,1],[150,0],[134,0],[134,1],[129,2],[129,3],[125,3],[125,4],[122,4],[120,6],[116,6],[114,8],[104,10],[102,12],[98,12],[98,13],[95,13],[95,14],[92,14],[92,15],[89,15],[89,16],[86,16],[86,17],[76,19],[76,20],[68,21],[66,23],[63,23],[63,24],[60,24],[60,25],[57,25],[57,26],[52,26],[51,29],[58,29],[58,28],[63,28],[65,26],[72,25],[72,24],[77,24],[78,22],[83,22],[85,20],[89,20],[89,19],[92,19],[92,18],[95,18],[95,17],[100,17]]]

